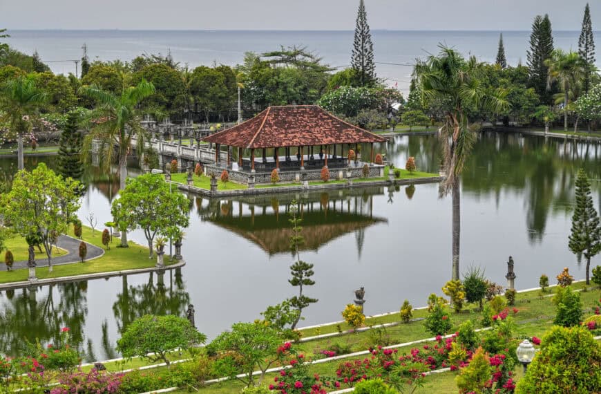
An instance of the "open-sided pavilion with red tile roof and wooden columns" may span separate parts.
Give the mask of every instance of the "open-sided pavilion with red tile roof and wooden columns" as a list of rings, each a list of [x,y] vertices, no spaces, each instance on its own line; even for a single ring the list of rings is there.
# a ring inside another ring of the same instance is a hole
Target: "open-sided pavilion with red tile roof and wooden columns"
[[[216,166],[224,167],[218,153],[226,146],[225,167],[231,169],[231,148],[238,148],[238,171],[255,173],[274,168],[303,171],[346,167],[349,149],[358,153],[359,144],[371,144],[369,160],[363,161],[373,163],[373,145],[385,139],[336,118],[319,106],[290,105],[269,106],[254,118],[209,135],[204,141],[216,144]],[[245,150],[250,151],[249,158],[243,158]]]

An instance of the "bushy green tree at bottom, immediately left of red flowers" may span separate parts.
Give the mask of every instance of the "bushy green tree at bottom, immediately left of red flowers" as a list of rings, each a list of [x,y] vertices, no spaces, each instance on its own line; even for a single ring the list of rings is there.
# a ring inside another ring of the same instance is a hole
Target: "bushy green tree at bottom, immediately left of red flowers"
[[[217,375],[236,378],[252,386],[255,370],[260,370],[260,384],[267,369],[285,357],[280,349],[282,339],[278,330],[269,324],[234,323],[230,331],[222,332],[213,339],[207,350],[218,355],[214,365]],[[238,377],[240,372],[245,377]]]

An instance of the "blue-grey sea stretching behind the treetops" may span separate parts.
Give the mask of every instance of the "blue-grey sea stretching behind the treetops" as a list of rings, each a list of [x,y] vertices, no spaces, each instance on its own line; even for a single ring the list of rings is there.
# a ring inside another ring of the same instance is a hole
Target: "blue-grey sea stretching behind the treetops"
[[[245,53],[265,53],[281,47],[301,46],[323,58],[333,68],[350,65],[352,30],[10,30],[8,44],[24,53],[35,50],[54,73],[75,73],[84,44],[92,60],[128,61],[141,54],[171,53],[180,65],[235,66]],[[372,30],[376,73],[388,86],[407,95],[412,65],[435,54],[440,45],[464,55],[494,62],[503,33],[508,64],[526,64],[529,31],[475,30]],[[556,48],[578,50],[578,31],[555,31]],[[595,32],[600,42],[601,32]],[[598,66],[601,62],[598,61]]]

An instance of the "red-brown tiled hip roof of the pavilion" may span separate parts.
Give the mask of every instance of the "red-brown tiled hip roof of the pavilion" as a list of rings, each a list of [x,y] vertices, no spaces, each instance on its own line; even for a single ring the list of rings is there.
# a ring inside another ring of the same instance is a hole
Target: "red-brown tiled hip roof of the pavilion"
[[[254,118],[204,138],[239,148],[298,147],[384,142],[384,138],[353,126],[316,105],[270,106]]]

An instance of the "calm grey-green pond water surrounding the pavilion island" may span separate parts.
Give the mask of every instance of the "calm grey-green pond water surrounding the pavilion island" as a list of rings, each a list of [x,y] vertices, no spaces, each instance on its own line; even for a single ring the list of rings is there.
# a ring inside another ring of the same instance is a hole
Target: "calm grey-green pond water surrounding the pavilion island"
[[[380,147],[397,165],[415,156],[417,166],[437,171],[434,136],[397,137]],[[519,134],[481,135],[462,177],[461,272],[470,265],[504,284],[508,256],[515,260],[517,288],[540,274],[567,266],[584,271],[567,248],[575,172],[593,179],[601,203],[601,144],[545,140]],[[54,158],[29,159],[53,165]],[[0,160],[4,174],[16,159]],[[109,221],[117,185],[91,182],[79,217],[94,212]],[[340,319],[353,290],[365,287],[368,314],[414,306],[439,292],[451,274],[450,198],[437,185],[375,187],[327,194],[208,200],[191,198],[191,224],[182,247],[187,265],[163,277],[141,274],[0,294],[0,353],[19,353],[23,337],[47,341],[68,326],[89,359],[117,356],[120,330],[145,313],[184,315],[188,303],[209,338],[236,321],[252,321],[268,305],[295,290],[289,285],[292,256],[287,210],[303,202],[305,249],[316,285],[306,294],[319,302],[303,325]],[[601,207],[600,207],[601,208]],[[131,239],[144,244],[141,232]],[[110,253],[110,252],[109,252]],[[592,265],[601,264],[597,256]]]

